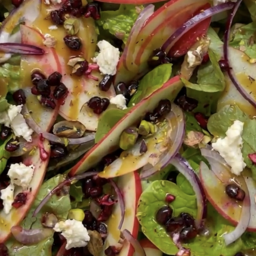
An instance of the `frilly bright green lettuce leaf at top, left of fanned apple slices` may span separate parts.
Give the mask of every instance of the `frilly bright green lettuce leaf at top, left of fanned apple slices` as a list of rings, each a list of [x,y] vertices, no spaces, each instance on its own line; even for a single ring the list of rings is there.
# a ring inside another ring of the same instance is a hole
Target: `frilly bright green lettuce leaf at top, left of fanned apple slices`
[[[139,15],[139,9],[142,10],[143,6],[121,4],[117,11],[102,11],[97,23],[126,43],[131,28]]]

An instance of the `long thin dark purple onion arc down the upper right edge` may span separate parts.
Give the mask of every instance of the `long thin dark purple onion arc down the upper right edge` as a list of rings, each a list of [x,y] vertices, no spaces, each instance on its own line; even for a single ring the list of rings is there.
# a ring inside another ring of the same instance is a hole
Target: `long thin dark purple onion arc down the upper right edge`
[[[232,67],[232,64],[230,65],[230,61],[229,61],[229,40],[230,40],[230,29],[231,29],[231,25],[233,22],[233,18],[236,15],[236,12],[241,4],[242,0],[238,0],[235,3],[235,6],[229,16],[229,19],[227,20],[227,24],[226,24],[226,30],[224,33],[224,48],[223,48],[223,52],[224,52],[224,60],[226,61],[227,65],[229,67]],[[253,105],[253,107],[256,108],[256,101],[253,98],[253,96],[250,94],[250,91],[246,90],[244,88],[243,85],[241,85],[239,83],[239,81],[236,79],[236,75],[234,74],[232,69],[227,69],[227,75],[229,76],[230,80],[232,81],[232,83],[235,85],[236,89],[239,91],[239,93],[241,94],[241,96],[244,97],[244,99],[246,99],[248,102],[250,102],[251,105]]]

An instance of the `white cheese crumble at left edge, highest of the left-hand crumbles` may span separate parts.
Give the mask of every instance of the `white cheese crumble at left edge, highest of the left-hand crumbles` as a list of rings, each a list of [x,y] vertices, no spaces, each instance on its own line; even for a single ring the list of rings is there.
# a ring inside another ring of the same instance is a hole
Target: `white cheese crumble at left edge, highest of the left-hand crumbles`
[[[26,141],[32,141],[34,132],[26,123],[23,115],[20,113],[23,105],[10,105],[7,111],[0,113],[0,124],[12,128],[15,136],[23,137]]]

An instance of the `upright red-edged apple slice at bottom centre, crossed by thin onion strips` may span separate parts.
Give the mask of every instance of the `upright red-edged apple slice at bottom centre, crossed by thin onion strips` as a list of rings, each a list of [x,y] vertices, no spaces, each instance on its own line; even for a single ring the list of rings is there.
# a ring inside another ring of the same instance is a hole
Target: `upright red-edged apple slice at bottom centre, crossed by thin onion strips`
[[[122,177],[119,177],[117,186],[121,189],[125,202],[125,218],[122,224],[122,230],[127,229],[134,238],[137,238],[140,225],[136,218],[136,209],[142,193],[140,176],[137,172],[123,175]],[[104,250],[108,248],[108,246],[115,246],[120,240],[121,231],[118,230],[120,220],[121,208],[119,202],[117,202],[114,206],[111,217],[106,222],[108,225],[108,236],[104,243],[103,255],[105,255]],[[134,248],[130,243],[125,241],[119,256],[133,256],[133,253]]]

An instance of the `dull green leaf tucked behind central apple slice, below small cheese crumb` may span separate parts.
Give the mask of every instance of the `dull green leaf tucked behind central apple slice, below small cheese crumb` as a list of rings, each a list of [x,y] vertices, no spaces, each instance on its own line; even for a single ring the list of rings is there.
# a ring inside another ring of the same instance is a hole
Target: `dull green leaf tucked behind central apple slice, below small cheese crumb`
[[[99,118],[99,123],[95,134],[95,142],[98,143],[111,130],[111,128],[113,128],[113,126],[130,111],[130,109],[131,108],[113,108],[104,111]]]

